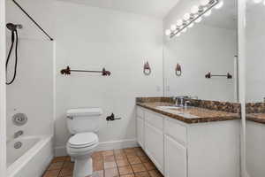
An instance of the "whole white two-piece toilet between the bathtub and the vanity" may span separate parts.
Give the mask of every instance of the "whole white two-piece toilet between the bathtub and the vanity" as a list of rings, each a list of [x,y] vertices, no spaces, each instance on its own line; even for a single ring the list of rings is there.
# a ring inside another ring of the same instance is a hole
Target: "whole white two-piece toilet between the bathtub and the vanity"
[[[93,173],[91,155],[99,140],[101,108],[71,109],[67,111],[67,126],[72,134],[66,149],[74,159],[73,177],[85,177]]]

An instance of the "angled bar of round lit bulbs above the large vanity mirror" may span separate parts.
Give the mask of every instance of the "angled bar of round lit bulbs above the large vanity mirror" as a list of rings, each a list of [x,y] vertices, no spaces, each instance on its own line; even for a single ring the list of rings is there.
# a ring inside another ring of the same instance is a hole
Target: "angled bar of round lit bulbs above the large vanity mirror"
[[[223,6],[221,0],[202,0],[200,6],[193,6],[191,13],[186,13],[184,19],[178,19],[177,24],[171,25],[170,29],[165,31],[165,35],[173,38],[180,35],[181,32],[186,32],[187,27],[193,27],[194,22],[201,22],[202,16],[209,16],[211,10],[216,7],[219,9]]]

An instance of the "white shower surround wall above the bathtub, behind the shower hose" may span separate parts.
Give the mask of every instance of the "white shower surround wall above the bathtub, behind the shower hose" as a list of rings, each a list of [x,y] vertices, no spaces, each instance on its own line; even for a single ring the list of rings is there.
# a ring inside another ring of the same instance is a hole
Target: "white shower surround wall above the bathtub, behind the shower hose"
[[[6,1],[7,22],[22,24],[19,29],[19,63],[17,78],[7,86],[7,136],[23,130],[25,135],[53,134],[53,42],[50,42],[11,1]],[[51,1],[24,0],[19,2],[44,29],[52,32],[50,23]],[[45,9],[45,11],[44,11]],[[7,31],[7,50],[11,46]],[[13,50],[14,51],[14,50]],[[9,65],[9,80],[13,71],[14,55]],[[23,127],[12,124],[15,113],[27,114]]]

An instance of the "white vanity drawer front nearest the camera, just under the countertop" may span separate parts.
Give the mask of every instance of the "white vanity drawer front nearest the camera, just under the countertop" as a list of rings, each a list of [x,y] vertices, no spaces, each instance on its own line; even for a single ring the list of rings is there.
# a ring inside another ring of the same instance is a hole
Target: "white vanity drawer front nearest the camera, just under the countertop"
[[[186,127],[180,125],[175,119],[164,120],[164,134],[186,146]]]

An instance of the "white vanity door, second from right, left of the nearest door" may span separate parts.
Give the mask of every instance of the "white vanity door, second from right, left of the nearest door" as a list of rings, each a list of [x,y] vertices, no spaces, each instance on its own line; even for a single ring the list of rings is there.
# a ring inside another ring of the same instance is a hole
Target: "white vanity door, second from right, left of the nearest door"
[[[145,150],[163,173],[163,131],[145,122]]]

